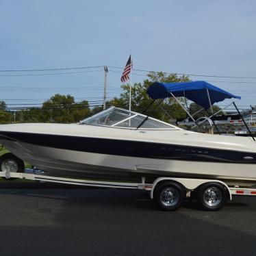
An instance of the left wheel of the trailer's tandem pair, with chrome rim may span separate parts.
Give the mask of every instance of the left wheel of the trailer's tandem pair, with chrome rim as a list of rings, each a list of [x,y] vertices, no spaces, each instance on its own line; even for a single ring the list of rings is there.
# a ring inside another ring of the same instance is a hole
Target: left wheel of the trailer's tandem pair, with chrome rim
[[[185,199],[185,191],[175,182],[164,182],[155,188],[154,201],[164,211],[175,211]]]

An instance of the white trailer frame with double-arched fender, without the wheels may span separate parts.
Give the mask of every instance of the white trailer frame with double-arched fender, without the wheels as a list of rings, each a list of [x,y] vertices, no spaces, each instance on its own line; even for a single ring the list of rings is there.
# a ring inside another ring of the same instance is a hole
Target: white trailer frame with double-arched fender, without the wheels
[[[55,177],[45,175],[44,172],[38,169],[25,169],[25,172],[0,172],[0,177],[5,179],[27,179],[31,181],[62,183],[69,185],[80,185],[94,188],[120,188],[120,189],[133,189],[133,190],[146,190],[150,193],[150,199],[155,199],[155,191],[160,185],[166,183],[176,183],[181,185],[185,192],[185,198],[192,197],[202,185],[218,183],[227,190],[227,199],[232,200],[233,195],[249,195],[256,196],[256,188],[240,188],[239,186],[229,186],[224,181],[218,179],[196,179],[196,178],[180,178],[180,177],[158,177],[153,183],[146,183],[146,178],[141,177],[141,182],[133,183],[127,181],[104,181],[94,179],[71,179],[64,177]]]

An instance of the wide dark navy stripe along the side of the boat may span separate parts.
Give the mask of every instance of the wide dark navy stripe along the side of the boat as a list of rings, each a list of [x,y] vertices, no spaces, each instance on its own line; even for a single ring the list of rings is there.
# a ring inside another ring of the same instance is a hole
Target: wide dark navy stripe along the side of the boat
[[[38,146],[49,146],[55,149],[67,149],[106,155],[199,162],[256,164],[256,153],[208,149],[199,146],[1,131],[0,142],[4,144],[4,140],[16,140]]]

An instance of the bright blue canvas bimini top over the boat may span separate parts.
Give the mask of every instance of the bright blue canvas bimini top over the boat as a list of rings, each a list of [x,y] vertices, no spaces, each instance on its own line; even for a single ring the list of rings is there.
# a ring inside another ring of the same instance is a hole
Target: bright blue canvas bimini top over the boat
[[[155,82],[149,86],[146,90],[149,97],[152,99],[165,99],[172,97],[186,97],[190,101],[194,101],[197,105],[208,110],[211,107],[207,95],[207,89],[209,92],[209,98],[211,105],[219,101],[224,101],[225,99],[241,99],[240,96],[235,96],[225,90],[222,90],[206,81],[185,81],[179,83],[158,83]],[[172,93],[172,94],[170,94]]]

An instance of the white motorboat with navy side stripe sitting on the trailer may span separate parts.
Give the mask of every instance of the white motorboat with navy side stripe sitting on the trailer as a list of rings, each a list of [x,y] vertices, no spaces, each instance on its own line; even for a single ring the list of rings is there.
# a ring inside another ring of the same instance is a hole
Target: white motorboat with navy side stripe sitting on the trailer
[[[173,86],[153,84],[148,94],[154,101],[168,95],[175,97],[173,90],[164,94],[166,88]],[[222,94],[229,99],[235,97],[222,90],[216,99],[215,89],[208,86],[207,90],[210,103],[222,100]],[[200,100],[204,102],[203,97]],[[253,138],[186,131],[118,107],[110,107],[77,124],[0,125],[0,142],[16,157],[47,175],[95,175],[127,181],[142,176],[146,179],[171,176],[256,181]]]

